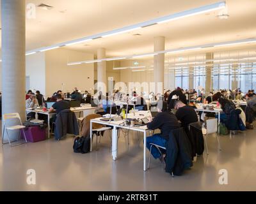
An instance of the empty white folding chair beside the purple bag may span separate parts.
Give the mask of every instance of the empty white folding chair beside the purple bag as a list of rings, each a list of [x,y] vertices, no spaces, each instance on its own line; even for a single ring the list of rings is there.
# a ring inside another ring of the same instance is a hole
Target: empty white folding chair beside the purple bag
[[[17,125],[15,125],[15,126],[6,126],[6,120],[11,120],[11,119],[19,119],[19,124],[17,124]],[[21,122],[21,120],[20,120],[20,115],[19,115],[19,113],[7,113],[7,114],[4,114],[3,115],[3,122],[4,122],[4,130],[3,130],[3,136],[2,136],[2,144],[4,145],[4,144],[6,144],[6,143],[4,143],[4,133],[5,133],[5,130],[6,130],[6,133],[7,133],[7,136],[8,136],[8,141],[9,141],[9,145],[11,146],[11,147],[15,147],[15,146],[17,146],[17,145],[22,145],[22,144],[24,144],[24,143],[18,143],[18,144],[15,144],[15,145],[12,145],[12,142],[11,142],[11,140],[10,140],[10,136],[9,136],[9,133],[8,133],[8,130],[10,131],[10,130],[20,130],[20,129],[22,129],[22,131],[23,131],[23,134],[24,134],[24,138],[25,138],[25,141],[26,141],[26,143],[27,143],[27,138],[26,138],[26,135],[25,135],[25,132],[24,132],[24,128],[26,128],[26,126],[22,126],[22,122]],[[19,139],[19,136],[17,136],[17,140]],[[16,141],[17,141],[16,140]],[[15,142],[15,141],[13,141],[13,142]]]

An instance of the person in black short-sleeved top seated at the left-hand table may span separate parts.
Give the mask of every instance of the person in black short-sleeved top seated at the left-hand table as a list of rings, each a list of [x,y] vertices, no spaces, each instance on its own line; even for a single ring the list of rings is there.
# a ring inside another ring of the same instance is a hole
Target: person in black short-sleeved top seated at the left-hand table
[[[54,105],[52,105],[52,107],[49,109],[49,113],[56,112],[58,114],[61,112],[61,110],[66,110],[66,109],[70,109],[70,104],[68,103],[68,101],[63,100],[61,94],[56,94],[56,103],[54,103]],[[50,119],[50,124],[52,124],[52,122],[55,122],[56,118],[57,118],[57,115],[52,117]]]

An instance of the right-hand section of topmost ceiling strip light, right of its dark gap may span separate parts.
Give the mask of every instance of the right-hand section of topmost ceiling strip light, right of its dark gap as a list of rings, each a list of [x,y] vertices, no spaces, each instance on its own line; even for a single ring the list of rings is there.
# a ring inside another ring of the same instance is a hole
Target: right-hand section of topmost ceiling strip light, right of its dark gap
[[[170,22],[171,20],[178,20],[180,18],[191,17],[193,15],[207,13],[207,12],[210,12],[210,11],[221,10],[223,8],[226,8],[225,1],[215,3],[215,4],[210,4],[210,5],[207,5],[207,6],[201,6],[199,8],[195,8],[195,9],[192,9],[192,10],[182,11],[182,12],[179,12],[179,13],[175,13],[173,15],[168,15],[166,17],[163,17],[163,19],[161,21],[157,22],[157,23],[162,24],[162,23]]]

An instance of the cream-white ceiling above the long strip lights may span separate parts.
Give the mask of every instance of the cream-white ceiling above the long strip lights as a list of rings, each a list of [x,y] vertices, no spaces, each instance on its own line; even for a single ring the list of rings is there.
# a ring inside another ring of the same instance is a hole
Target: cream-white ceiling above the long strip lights
[[[44,3],[54,8],[36,8],[36,18],[26,20],[26,50],[111,31],[218,1],[221,0],[27,0],[27,3]],[[154,36],[166,37],[166,49],[255,38],[256,1],[226,2],[230,15],[227,20],[217,18],[219,11],[215,11],[68,48],[95,53],[98,47],[104,47],[108,57],[115,57],[152,52]],[[132,35],[136,33],[141,36]]]

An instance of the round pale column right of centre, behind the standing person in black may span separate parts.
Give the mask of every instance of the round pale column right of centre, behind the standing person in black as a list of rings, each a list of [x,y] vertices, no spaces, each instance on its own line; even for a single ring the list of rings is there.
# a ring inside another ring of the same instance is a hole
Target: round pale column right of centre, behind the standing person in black
[[[154,38],[154,52],[161,50],[164,50],[164,37],[157,36]],[[164,54],[154,56],[154,82],[155,92],[162,93],[164,91]]]

